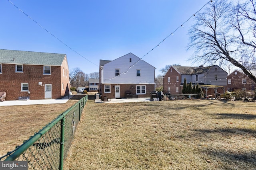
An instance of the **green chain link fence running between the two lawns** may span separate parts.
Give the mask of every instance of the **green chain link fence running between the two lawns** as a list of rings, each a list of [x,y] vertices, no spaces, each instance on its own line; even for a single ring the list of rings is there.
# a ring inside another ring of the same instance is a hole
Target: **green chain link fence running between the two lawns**
[[[31,170],[62,170],[87,100],[87,96],[80,99],[0,160],[28,161],[28,169]]]

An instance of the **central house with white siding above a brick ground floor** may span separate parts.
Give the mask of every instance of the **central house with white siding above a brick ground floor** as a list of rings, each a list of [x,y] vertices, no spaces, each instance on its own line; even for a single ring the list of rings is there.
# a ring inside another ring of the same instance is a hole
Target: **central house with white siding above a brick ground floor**
[[[125,98],[130,92],[134,97],[150,97],[155,91],[155,69],[132,53],[113,61],[100,60],[100,94]]]

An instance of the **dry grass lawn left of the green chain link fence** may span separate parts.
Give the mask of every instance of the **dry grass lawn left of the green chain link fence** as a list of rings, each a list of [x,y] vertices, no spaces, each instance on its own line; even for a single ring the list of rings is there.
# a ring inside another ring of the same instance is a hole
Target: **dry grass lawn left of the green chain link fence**
[[[0,156],[21,145],[78,100],[66,104],[0,106]]]

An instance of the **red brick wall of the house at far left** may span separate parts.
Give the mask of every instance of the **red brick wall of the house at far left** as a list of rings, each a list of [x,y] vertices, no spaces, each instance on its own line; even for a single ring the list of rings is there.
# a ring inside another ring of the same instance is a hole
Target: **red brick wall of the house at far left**
[[[30,96],[30,100],[44,99],[44,86],[38,85],[42,82],[43,85],[52,84],[52,99],[61,98],[61,67],[51,66],[51,75],[43,75],[43,70],[41,65],[23,65],[23,72],[15,72],[15,64],[2,64],[0,91],[6,92],[6,100],[17,100],[19,96]],[[21,92],[21,83],[28,83],[30,94]]]

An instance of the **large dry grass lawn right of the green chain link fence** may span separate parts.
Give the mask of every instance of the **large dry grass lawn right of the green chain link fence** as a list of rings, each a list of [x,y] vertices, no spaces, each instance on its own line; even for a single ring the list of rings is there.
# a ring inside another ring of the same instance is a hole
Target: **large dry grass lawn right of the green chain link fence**
[[[255,170],[256,103],[89,101],[64,169]]]

